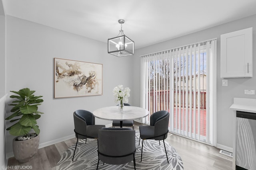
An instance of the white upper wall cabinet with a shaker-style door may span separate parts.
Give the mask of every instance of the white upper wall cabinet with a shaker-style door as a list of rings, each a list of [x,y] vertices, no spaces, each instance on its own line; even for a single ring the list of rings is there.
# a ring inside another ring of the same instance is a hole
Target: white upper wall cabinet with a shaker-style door
[[[252,27],[220,35],[220,77],[252,77]]]

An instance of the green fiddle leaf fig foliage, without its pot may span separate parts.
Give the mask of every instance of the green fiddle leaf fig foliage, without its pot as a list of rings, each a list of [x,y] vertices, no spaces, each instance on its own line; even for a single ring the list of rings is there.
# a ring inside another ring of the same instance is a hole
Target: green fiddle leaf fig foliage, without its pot
[[[14,125],[8,127],[6,130],[10,132],[11,135],[20,136],[26,135],[34,129],[36,135],[39,135],[40,129],[38,127],[36,120],[41,117],[42,112],[38,111],[38,105],[40,105],[44,100],[40,99],[43,96],[34,96],[33,90],[29,88],[23,88],[16,91],[10,91],[18,95],[12,95],[10,98],[16,100],[12,101],[13,106],[11,109],[12,115],[6,118],[10,122],[16,122]]]

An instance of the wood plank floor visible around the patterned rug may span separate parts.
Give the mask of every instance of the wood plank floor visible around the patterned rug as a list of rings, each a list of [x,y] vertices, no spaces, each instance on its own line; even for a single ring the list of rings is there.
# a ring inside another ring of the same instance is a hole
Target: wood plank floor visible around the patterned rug
[[[135,123],[134,129],[136,131],[139,130],[139,125],[139,123]],[[184,163],[184,170],[232,170],[232,158],[220,154],[220,149],[216,147],[175,134],[168,136],[166,141],[181,156]],[[76,138],[73,138],[41,148],[38,150],[35,158],[26,163],[19,163],[14,157],[9,158],[8,170],[24,170],[24,166],[30,166],[32,170],[55,170],[55,166],[60,160],[62,153],[75,143]]]

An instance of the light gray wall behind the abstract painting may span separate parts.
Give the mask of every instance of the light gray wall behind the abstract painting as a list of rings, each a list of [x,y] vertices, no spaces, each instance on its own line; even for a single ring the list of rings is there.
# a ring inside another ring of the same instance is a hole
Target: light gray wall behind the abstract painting
[[[132,57],[108,54],[107,39],[102,43],[10,16],[6,16],[6,30],[6,91],[28,87],[36,90],[35,95],[43,96],[44,102],[38,107],[38,111],[44,112],[38,119],[41,147],[74,137],[76,109],[93,111],[116,105],[112,90],[118,84],[133,90],[133,76],[127,74],[132,67]],[[103,64],[103,95],[54,99],[55,57]],[[132,98],[129,103],[134,103]],[[6,114],[10,114],[10,106]],[[110,123],[96,119],[96,124]],[[12,154],[13,138],[7,132],[8,154]]]

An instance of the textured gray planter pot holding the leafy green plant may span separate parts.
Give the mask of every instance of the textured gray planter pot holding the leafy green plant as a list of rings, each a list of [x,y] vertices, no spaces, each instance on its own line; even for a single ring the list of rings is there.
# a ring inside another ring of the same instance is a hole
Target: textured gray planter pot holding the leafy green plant
[[[18,137],[14,138],[12,141],[12,149],[16,160],[19,162],[32,160],[38,151],[39,135],[25,141],[16,141],[17,138]]]

